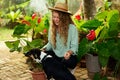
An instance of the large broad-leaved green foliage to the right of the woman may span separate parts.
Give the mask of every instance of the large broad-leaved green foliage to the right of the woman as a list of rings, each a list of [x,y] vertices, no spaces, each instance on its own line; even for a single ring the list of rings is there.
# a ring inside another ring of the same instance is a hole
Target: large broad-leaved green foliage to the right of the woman
[[[86,36],[80,40],[78,49],[78,59],[91,53],[94,47],[101,67],[106,67],[109,57],[112,56],[119,62],[120,47],[120,17],[118,10],[103,10],[97,12],[94,19],[83,21],[74,20],[80,32],[88,33],[95,31],[95,39],[87,40]],[[77,21],[77,22],[76,22]],[[93,54],[93,53],[92,53]]]

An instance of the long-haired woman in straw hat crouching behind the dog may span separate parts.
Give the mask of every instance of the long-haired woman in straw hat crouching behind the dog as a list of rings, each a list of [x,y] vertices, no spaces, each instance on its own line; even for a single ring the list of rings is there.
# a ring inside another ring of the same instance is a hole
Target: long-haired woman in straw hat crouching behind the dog
[[[71,13],[64,3],[57,3],[52,11],[51,26],[48,33],[48,43],[45,51],[50,51],[56,60],[63,63],[67,69],[77,65],[78,31],[71,19]]]

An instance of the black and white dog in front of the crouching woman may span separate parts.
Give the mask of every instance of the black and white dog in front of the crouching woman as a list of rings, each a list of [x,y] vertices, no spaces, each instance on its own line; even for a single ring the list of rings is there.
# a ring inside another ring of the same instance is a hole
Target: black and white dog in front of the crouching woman
[[[39,49],[32,49],[27,52],[25,56],[33,56],[37,62],[42,63],[48,80],[51,78],[55,80],[76,80],[75,76],[63,65],[63,63]]]

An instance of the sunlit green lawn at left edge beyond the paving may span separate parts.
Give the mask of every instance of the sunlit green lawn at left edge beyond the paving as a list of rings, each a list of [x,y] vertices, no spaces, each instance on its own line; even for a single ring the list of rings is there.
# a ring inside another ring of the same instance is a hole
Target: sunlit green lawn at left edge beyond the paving
[[[0,41],[14,40],[11,36],[13,29],[8,29],[5,27],[0,27]]]

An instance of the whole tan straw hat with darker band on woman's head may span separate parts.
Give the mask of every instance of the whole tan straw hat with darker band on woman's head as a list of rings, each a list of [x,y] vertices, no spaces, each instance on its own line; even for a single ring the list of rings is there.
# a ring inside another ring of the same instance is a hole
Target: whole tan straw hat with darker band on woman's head
[[[53,8],[49,8],[50,10],[55,10],[55,11],[61,11],[65,12],[68,14],[72,14],[70,11],[68,11],[68,6],[65,3],[56,3]]]

